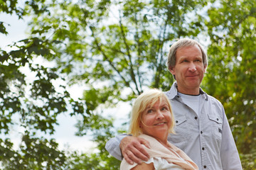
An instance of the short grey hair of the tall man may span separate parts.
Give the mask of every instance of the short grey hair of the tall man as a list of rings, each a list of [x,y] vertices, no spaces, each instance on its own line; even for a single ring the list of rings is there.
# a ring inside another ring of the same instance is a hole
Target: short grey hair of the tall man
[[[173,45],[171,45],[167,63],[166,63],[168,70],[173,68],[176,64],[176,52],[177,52],[178,48],[188,47],[188,46],[193,46],[193,45],[198,45],[198,47],[201,49],[201,52],[203,55],[203,66],[207,67],[207,65],[208,65],[207,54],[206,54],[206,51],[204,50],[203,46],[196,40],[192,40],[189,38],[183,38],[183,39],[180,39],[177,42],[175,42]]]

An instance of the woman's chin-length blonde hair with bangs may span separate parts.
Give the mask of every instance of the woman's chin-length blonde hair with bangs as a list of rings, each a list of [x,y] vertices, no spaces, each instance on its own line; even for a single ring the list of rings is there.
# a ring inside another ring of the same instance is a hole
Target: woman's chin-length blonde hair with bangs
[[[139,123],[142,121],[142,113],[146,111],[147,108],[151,108],[158,101],[166,100],[168,108],[171,114],[171,127],[169,133],[174,132],[175,120],[174,113],[171,109],[171,103],[164,92],[158,89],[150,89],[142,94],[140,94],[134,101],[131,113],[131,122],[129,125],[129,133],[138,136],[142,134],[142,129],[139,127]]]

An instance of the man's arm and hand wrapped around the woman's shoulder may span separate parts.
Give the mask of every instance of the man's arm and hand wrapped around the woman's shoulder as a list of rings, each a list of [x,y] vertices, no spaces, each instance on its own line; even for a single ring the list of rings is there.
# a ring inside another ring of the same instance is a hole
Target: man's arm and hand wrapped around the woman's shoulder
[[[150,147],[149,142],[141,137],[119,135],[110,139],[105,148],[113,157],[119,160],[122,160],[123,155],[124,159],[129,164],[133,164],[134,162],[142,164],[142,160],[147,161],[149,159],[149,154],[146,152],[142,144],[148,148]]]

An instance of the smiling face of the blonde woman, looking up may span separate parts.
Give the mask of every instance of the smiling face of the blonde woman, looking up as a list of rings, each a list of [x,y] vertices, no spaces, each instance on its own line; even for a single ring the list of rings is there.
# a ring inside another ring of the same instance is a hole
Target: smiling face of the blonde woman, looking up
[[[145,135],[167,141],[171,127],[171,111],[166,99],[162,98],[161,102],[157,101],[154,106],[146,108],[139,125]]]

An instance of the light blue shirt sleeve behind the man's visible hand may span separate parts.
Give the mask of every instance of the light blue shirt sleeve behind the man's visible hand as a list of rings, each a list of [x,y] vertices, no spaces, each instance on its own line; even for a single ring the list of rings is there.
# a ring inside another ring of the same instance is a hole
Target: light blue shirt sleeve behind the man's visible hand
[[[122,134],[118,135],[117,137],[113,137],[109,141],[107,141],[105,145],[105,149],[107,149],[107,152],[109,152],[113,157],[119,159],[120,161],[122,161],[122,153],[119,144],[121,140],[127,136],[127,134]]]

